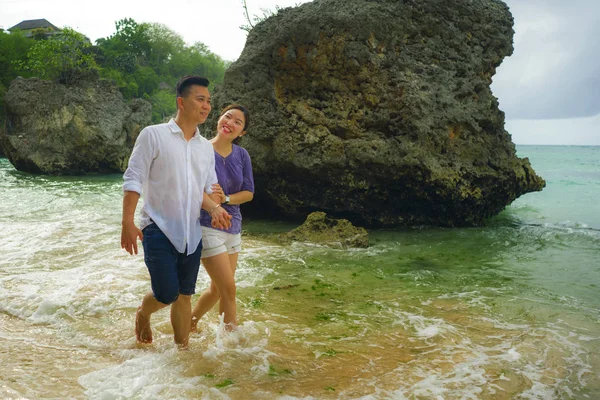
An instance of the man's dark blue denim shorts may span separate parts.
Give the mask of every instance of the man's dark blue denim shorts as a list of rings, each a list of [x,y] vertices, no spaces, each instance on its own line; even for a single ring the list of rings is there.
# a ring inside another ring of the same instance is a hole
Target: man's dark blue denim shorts
[[[155,223],[145,227],[142,233],[144,261],[150,273],[152,293],[156,300],[163,304],[171,304],[180,294],[194,294],[202,242],[196,251],[188,256],[187,249],[183,254],[179,253]]]

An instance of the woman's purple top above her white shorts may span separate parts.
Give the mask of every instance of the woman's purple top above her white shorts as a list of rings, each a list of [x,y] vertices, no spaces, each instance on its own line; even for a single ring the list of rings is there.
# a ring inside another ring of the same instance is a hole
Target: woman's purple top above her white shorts
[[[254,193],[254,177],[252,176],[252,163],[250,155],[243,147],[233,145],[231,154],[223,157],[216,151],[215,170],[217,180],[226,195],[247,190]],[[239,204],[221,204],[231,214],[231,227],[222,229],[227,233],[240,233],[242,231],[242,213]],[[200,213],[200,224],[212,228],[210,215],[202,210]]]

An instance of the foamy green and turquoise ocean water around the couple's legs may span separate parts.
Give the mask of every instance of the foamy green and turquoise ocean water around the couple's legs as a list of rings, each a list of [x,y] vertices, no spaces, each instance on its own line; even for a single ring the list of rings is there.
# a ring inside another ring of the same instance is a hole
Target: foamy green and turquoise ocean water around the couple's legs
[[[240,329],[211,312],[188,351],[166,310],[135,343],[149,280],[120,249],[121,177],[0,159],[0,398],[598,399],[600,147],[518,153],[547,187],[485,227],[339,250],[246,221]]]

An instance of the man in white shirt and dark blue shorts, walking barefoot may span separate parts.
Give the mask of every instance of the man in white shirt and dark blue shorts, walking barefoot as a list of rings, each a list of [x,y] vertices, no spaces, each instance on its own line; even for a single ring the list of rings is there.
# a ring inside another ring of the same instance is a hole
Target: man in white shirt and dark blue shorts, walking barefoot
[[[171,305],[175,343],[187,347],[202,250],[200,208],[214,226],[231,224],[231,216],[206,194],[217,183],[213,147],[198,132],[211,110],[208,84],[199,76],[179,81],[175,119],[142,130],[123,175],[121,247],[137,254],[137,238],[142,240],[152,284],[136,312],[140,343],[152,342],[150,316]],[[134,214],[142,193],[140,230]]]

